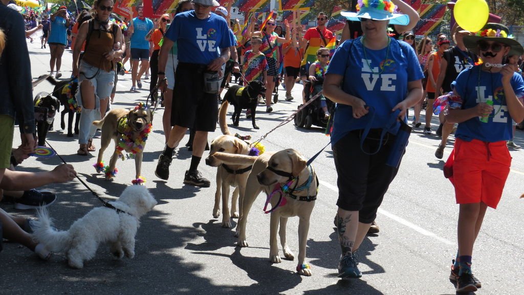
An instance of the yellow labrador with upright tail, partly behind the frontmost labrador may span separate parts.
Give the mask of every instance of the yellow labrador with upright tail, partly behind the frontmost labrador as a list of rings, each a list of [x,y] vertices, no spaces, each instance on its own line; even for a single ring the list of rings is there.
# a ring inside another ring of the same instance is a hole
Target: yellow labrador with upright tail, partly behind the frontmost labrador
[[[236,210],[238,195],[240,195],[241,198],[244,197],[247,175],[251,170],[254,160],[250,163],[242,160],[235,162],[235,155],[248,155],[249,143],[231,135],[225,122],[226,112],[227,108],[220,108],[219,125],[223,135],[217,136],[217,138],[211,142],[211,149],[209,156],[205,159],[205,163],[209,166],[217,167],[213,217],[218,218],[220,216],[220,201],[222,197],[222,227],[231,228],[231,218],[238,218],[238,212]],[[220,160],[220,157],[215,157],[216,153],[228,154],[232,156],[233,159],[229,159],[230,163],[225,164]],[[256,159],[256,157],[254,158]],[[231,186],[235,187],[235,190],[233,191],[231,199],[230,214],[229,195]]]

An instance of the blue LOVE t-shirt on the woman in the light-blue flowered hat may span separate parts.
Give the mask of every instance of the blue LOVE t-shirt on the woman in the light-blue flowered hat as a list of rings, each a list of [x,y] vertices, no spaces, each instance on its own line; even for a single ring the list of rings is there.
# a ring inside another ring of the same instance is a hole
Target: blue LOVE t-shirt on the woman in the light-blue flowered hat
[[[408,82],[420,80],[424,75],[417,55],[407,43],[390,38],[388,53],[387,47],[380,50],[366,48],[366,62],[361,40],[359,37],[340,45],[326,75],[343,76],[342,90],[375,109],[371,128],[384,128],[391,117],[391,109],[406,98]],[[381,65],[384,65],[382,73]],[[364,129],[370,119],[369,113],[355,119],[351,106],[338,103],[331,133],[332,144],[352,130]]]

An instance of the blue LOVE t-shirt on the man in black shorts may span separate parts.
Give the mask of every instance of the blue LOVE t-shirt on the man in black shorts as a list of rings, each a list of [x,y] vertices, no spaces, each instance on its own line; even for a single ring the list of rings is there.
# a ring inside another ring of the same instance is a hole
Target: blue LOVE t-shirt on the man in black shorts
[[[194,10],[179,13],[164,35],[178,46],[178,60],[209,65],[220,56],[220,48],[235,45],[226,20],[214,13],[206,19],[196,18]]]

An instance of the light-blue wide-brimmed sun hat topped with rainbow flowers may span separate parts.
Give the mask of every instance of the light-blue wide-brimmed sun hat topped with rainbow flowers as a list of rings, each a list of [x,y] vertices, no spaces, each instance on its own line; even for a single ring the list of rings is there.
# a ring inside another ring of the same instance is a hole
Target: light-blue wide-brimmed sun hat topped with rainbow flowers
[[[406,26],[409,16],[399,14],[397,6],[390,0],[358,0],[357,12],[341,12],[349,20],[359,21],[360,18],[374,20],[390,20],[391,25]]]

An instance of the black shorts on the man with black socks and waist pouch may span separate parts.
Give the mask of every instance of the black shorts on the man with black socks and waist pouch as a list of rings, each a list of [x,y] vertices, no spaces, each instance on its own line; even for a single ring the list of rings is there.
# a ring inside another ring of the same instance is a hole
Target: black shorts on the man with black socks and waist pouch
[[[179,62],[174,78],[171,125],[213,132],[219,114],[218,93],[205,93],[207,65]]]

